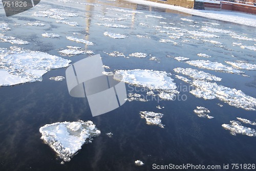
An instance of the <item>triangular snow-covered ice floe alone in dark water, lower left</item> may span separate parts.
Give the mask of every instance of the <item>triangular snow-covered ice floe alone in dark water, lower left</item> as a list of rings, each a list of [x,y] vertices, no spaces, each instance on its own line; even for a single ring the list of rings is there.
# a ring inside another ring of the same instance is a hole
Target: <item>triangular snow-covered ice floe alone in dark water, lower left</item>
[[[40,127],[39,132],[44,140],[64,162],[68,162],[77,154],[84,143],[92,142],[92,138],[100,135],[100,131],[92,121],[57,122]]]

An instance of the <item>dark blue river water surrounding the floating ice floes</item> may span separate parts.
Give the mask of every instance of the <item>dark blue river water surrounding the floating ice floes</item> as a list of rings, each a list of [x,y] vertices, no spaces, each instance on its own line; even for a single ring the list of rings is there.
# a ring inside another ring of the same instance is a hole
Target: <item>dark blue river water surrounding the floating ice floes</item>
[[[160,33],[153,26],[177,27],[189,31],[202,31],[201,27],[208,26],[223,30],[236,32],[241,36],[249,38],[256,37],[256,29],[253,27],[212,20],[208,18],[184,14],[182,12],[168,11],[161,8],[149,8],[143,5],[136,5],[125,1],[88,1],[87,3],[100,6],[78,5],[74,3],[50,3],[40,2],[38,8],[6,18],[1,9],[1,23],[8,23],[12,28],[5,34],[27,40],[29,45],[20,46],[30,50],[47,52],[52,55],[61,56],[58,51],[66,49],[66,46],[80,46],[93,50],[95,54],[101,54],[103,64],[110,66],[110,70],[124,69],[150,69],[166,71],[172,74],[177,67],[199,69],[179,62],[169,56],[184,56],[190,60],[205,59],[197,56],[198,53],[206,53],[209,60],[221,62],[225,60],[246,60],[256,64],[255,51],[241,49],[233,46],[232,42],[241,42],[246,46],[255,46],[255,41],[238,40],[224,33],[211,33],[219,38],[193,39],[191,34],[184,33],[186,37],[175,39],[178,45],[159,42],[161,38],[169,39],[166,33]],[[42,7],[44,6],[44,7]],[[133,16],[122,16],[125,12],[108,10],[106,8],[122,8],[138,10],[141,13],[130,13]],[[79,27],[72,27],[65,24],[58,24],[53,18],[42,18],[31,16],[38,10],[57,8],[60,10],[75,12],[79,17],[67,17],[68,22],[78,22]],[[95,25],[95,23],[108,23],[100,20],[105,17],[127,17],[110,24],[122,24],[131,27],[130,29],[107,28]],[[165,18],[145,17],[145,15],[162,16]],[[186,22],[181,18],[194,20]],[[45,27],[23,26],[28,22],[39,20],[46,24]],[[173,23],[175,25],[163,24],[160,22]],[[196,23],[195,23],[196,22]],[[198,23],[197,23],[198,22]],[[219,25],[205,24],[203,22]],[[21,26],[15,26],[14,24]],[[148,27],[140,25],[146,23]],[[195,25],[195,26],[194,26]],[[165,31],[177,33],[176,31]],[[104,32],[125,34],[128,38],[113,39],[103,35]],[[60,38],[51,39],[41,36],[42,33],[57,33]],[[78,38],[87,39],[96,46],[84,46],[77,42],[66,39],[73,33]],[[151,38],[139,38],[136,35],[148,35]],[[187,39],[190,42],[183,42]],[[203,42],[201,39],[220,41],[218,45]],[[0,42],[0,47],[8,48],[11,44]],[[123,58],[111,57],[106,53],[119,51],[129,56],[131,53],[142,52],[146,58]],[[150,56],[160,58],[159,61],[149,60]],[[62,56],[78,61],[87,55],[76,55],[73,57]],[[238,74],[228,74],[216,71],[199,69],[222,78],[223,86],[242,90],[245,94],[256,97],[256,74],[255,71],[245,71],[249,77]],[[180,96],[186,97],[185,101],[155,101],[148,102],[126,102],[120,108],[107,114],[92,117],[87,99],[73,98],[69,95],[66,81],[49,80],[51,76],[65,76],[66,69],[52,70],[43,76],[42,82],[20,84],[13,87],[0,87],[0,170],[152,170],[153,164],[187,164],[194,165],[221,165],[229,164],[256,164],[255,137],[245,135],[232,136],[229,131],[221,126],[242,117],[255,120],[255,112],[235,108],[218,99],[204,100],[196,98],[188,91],[193,89],[185,83],[172,76],[178,88],[182,88]],[[126,85],[127,91],[135,87]],[[183,89],[184,88],[184,89]],[[179,90],[180,91],[180,90]],[[137,92],[144,94],[145,92]],[[216,103],[224,106],[221,108]],[[162,110],[157,105],[164,106]],[[210,110],[214,119],[199,118],[193,110],[196,106],[204,106]],[[140,111],[161,112],[164,114],[162,123],[164,129],[155,125],[147,125],[144,119],[140,118]],[[62,121],[92,120],[101,135],[94,138],[93,143],[85,144],[79,153],[70,162],[63,165],[52,149],[40,139],[39,128],[48,123]],[[252,129],[255,126],[244,124]],[[106,133],[112,132],[112,138]],[[142,160],[145,165],[138,167],[135,160]],[[214,169],[212,169],[214,170]],[[224,169],[222,169],[224,170]],[[227,170],[227,169],[226,169]],[[240,169],[241,170],[241,169]],[[244,169],[245,170],[245,169]]]

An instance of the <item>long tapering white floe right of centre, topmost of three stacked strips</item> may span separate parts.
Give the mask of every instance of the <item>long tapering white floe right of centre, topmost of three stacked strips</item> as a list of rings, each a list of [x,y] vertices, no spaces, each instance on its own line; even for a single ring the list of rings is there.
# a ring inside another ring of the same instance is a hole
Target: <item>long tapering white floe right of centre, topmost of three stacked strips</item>
[[[232,67],[227,67],[219,62],[212,62],[210,60],[190,60],[186,61],[191,66],[207,69],[207,70],[214,70],[214,71],[220,71],[220,72],[226,72],[226,73],[232,73],[232,74],[240,74],[244,73],[242,71],[233,69]]]

